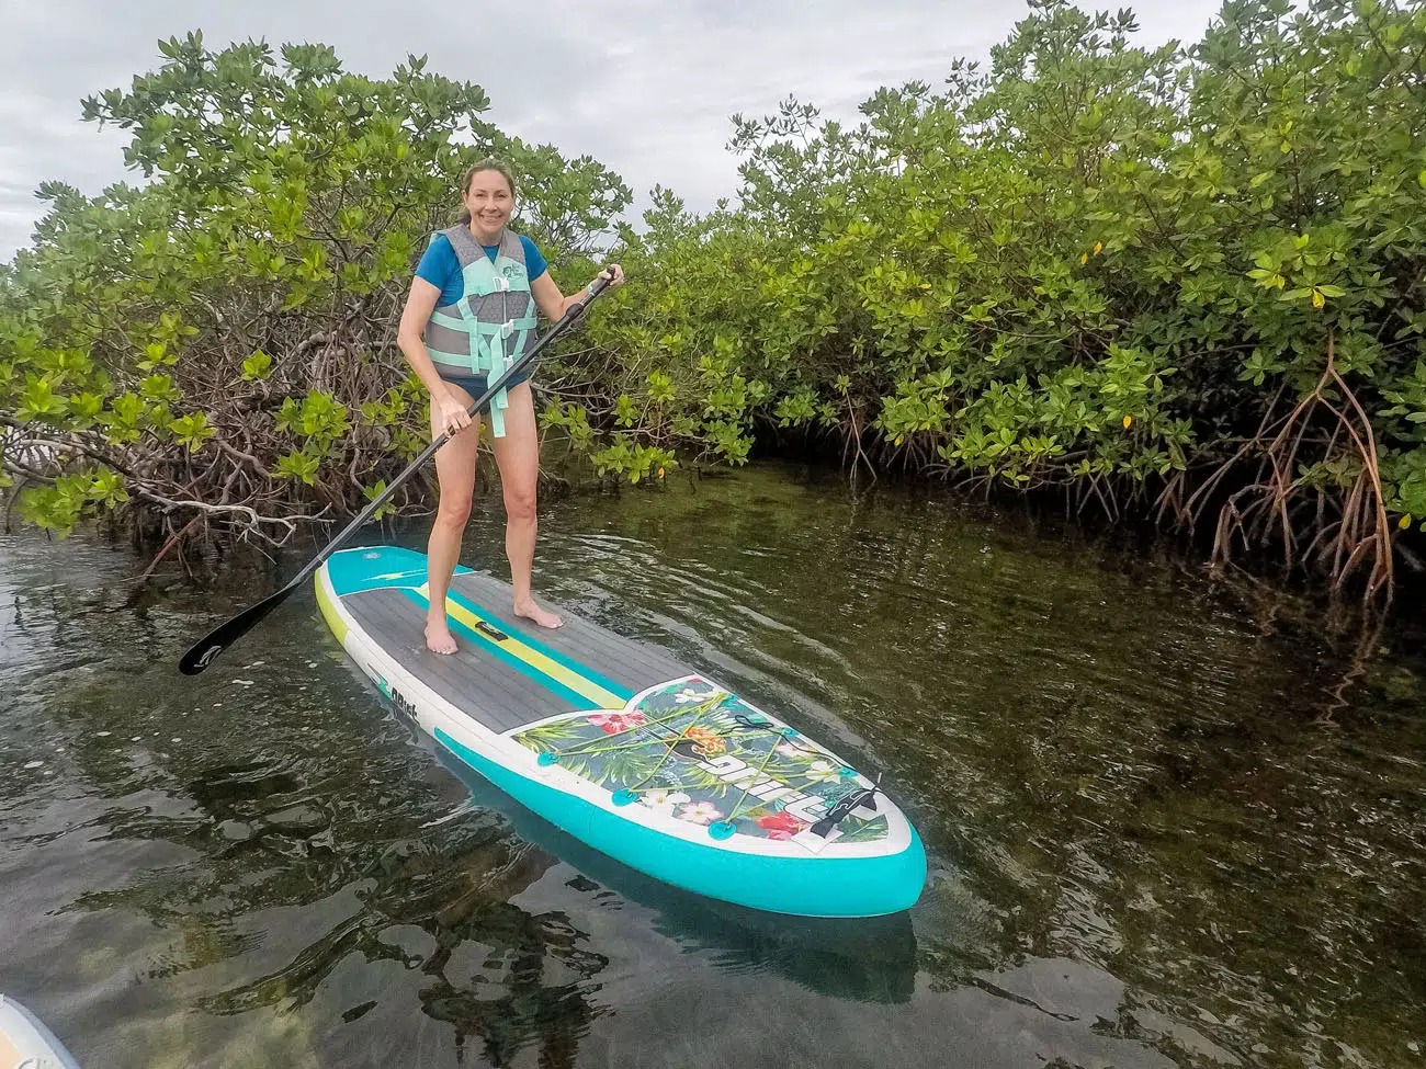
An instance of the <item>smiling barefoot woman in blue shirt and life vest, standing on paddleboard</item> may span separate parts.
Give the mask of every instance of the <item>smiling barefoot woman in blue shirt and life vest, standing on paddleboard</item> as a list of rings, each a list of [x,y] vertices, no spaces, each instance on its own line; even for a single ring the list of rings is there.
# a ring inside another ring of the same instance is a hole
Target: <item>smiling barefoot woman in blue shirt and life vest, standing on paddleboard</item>
[[[499,160],[483,160],[461,182],[462,225],[441,231],[426,247],[411,281],[396,344],[431,391],[431,435],[451,440],[436,452],[441,503],[431,529],[426,646],[455,653],[446,624],[445,599],[461,556],[461,534],[471,516],[475,490],[475,448],[481,419],[466,409],[492,379],[535,339],[535,306],[559,319],[592,291],[575,296],[559,292],[545,257],[529,238],[505,228],[515,211],[515,177]],[[610,285],[623,284],[623,269],[605,269]],[[505,490],[505,556],[511,562],[515,614],[540,627],[559,627],[555,613],[530,596],[535,560],[535,482],[539,476],[539,436],[529,372],[520,372],[491,405],[492,448]]]

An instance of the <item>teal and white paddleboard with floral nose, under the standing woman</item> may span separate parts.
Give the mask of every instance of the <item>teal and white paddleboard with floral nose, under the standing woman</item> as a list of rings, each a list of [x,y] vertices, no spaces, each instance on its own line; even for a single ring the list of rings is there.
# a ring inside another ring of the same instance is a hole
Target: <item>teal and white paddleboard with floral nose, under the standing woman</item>
[[[756,909],[908,908],[925,849],[876,784],[667,653],[562,611],[546,630],[511,587],[458,567],[461,650],[425,647],[426,559],[334,553],[315,576],[334,634],[404,714],[575,838],[659,879]]]

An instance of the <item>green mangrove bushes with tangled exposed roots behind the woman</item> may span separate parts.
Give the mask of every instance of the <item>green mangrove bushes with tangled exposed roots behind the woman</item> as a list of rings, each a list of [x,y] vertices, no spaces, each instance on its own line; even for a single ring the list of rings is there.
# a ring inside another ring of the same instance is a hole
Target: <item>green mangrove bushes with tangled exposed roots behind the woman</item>
[[[1385,604],[1426,556],[1426,9],[1231,0],[1144,48],[1128,11],[1030,7],[854,127],[734,115],[736,197],[656,188],[640,229],[620,177],[424,58],[161,41],[83,103],[144,182],[46,182],[0,267],[6,526],[163,554],[359,510],[425,445],[401,302],[495,153],[556,278],[629,272],[539,368],[549,463],[646,485],[794,449],[1051,492]]]

